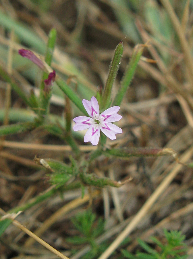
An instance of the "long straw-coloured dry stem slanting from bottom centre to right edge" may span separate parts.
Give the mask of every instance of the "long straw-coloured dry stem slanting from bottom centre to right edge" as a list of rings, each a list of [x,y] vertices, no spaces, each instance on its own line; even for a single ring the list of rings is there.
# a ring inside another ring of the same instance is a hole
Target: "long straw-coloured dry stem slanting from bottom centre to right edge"
[[[182,163],[186,163],[193,154],[193,146],[184,153],[180,157],[180,161]],[[122,231],[122,233],[113,241],[113,243],[107,248],[107,250],[98,258],[98,259],[106,259],[108,258],[115,249],[120,245],[120,243],[136,228],[140,220],[146,215],[150,207],[155,203],[155,201],[159,198],[161,193],[167,188],[167,186],[171,183],[171,181],[175,178],[177,173],[182,168],[181,164],[175,165],[173,170],[165,177],[165,179],[161,182],[161,184],[157,187],[155,192],[149,197],[149,199],[144,203],[141,209],[138,211],[136,216],[131,220],[128,226]]]

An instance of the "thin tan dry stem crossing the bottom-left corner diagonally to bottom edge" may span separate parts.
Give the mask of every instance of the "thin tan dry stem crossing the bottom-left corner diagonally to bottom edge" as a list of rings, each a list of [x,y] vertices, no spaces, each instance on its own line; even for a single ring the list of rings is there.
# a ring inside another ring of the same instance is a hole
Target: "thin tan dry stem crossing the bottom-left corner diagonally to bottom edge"
[[[7,215],[6,212],[4,212],[2,209],[0,210],[1,214]],[[69,259],[67,256],[63,255],[62,253],[60,253],[59,251],[57,251],[54,247],[52,247],[51,245],[49,245],[48,243],[46,243],[44,240],[42,240],[40,237],[36,236],[33,232],[31,232],[29,229],[27,229],[25,226],[23,226],[22,224],[20,224],[20,222],[18,222],[17,220],[13,220],[12,224],[18,228],[20,228],[22,231],[24,231],[26,234],[28,234],[30,237],[32,237],[33,239],[35,239],[38,243],[40,243],[41,245],[43,245],[45,248],[47,248],[48,250],[50,250],[52,253],[56,254],[59,258],[62,259]]]

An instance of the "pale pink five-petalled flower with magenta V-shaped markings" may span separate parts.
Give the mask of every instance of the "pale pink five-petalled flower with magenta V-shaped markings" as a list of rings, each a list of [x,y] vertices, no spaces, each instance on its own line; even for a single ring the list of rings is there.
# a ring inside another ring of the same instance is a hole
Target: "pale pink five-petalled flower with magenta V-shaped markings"
[[[94,96],[91,100],[82,100],[82,104],[86,109],[87,116],[78,116],[73,119],[76,123],[73,127],[74,131],[88,129],[84,142],[90,141],[93,146],[99,143],[100,130],[110,139],[116,139],[116,134],[123,133],[122,129],[112,124],[111,122],[119,121],[122,116],[117,114],[120,107],[113,106],[100,114],[98,101]]]

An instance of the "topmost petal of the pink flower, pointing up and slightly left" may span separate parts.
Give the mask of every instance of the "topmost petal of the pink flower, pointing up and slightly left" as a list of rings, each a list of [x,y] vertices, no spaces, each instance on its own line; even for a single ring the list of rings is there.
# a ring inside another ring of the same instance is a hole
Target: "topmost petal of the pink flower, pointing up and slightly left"
[[[90,117],[92,117],[93,119],[99,117],[99,104],[94,96],[92,96],[90,101],[83,99],[82,104],[84,105],[84,108]]]

